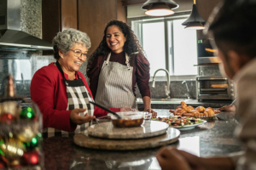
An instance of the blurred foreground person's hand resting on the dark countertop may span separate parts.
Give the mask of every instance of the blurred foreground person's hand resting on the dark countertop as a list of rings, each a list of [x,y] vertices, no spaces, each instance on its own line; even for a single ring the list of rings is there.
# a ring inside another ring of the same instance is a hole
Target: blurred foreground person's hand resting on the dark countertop
[[[156,154],[156,159],[162,170],[191,170],[189,162],[177,152],[177,149],[162,147]]]

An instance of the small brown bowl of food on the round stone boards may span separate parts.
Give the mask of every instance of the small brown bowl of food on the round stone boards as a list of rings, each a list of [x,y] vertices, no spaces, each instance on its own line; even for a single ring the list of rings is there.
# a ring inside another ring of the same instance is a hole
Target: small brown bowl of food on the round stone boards
[[[139,127],[144,122],[144,112],[139,111],[123,111],[117,112],[121,119],[111,115],[111,121],[114,127]]]

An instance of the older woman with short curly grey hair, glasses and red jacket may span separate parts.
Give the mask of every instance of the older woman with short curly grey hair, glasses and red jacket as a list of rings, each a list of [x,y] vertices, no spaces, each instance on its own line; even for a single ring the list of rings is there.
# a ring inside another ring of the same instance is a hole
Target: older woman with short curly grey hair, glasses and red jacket
[[[39,69],[31,83],[31,98],[43,113],[44,138],[79,133],[90,126],[95,116],[107,114],[89,103],[94,100],[79,72],[90,48],[87,34],[74,29],[59,32],[54,37],[53,48],[56,62]]]

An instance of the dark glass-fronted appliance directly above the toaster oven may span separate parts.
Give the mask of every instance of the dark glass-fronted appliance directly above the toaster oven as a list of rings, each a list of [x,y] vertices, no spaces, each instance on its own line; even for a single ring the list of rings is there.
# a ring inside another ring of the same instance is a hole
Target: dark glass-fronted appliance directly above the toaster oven
[[[201,38],[197,40],[197,59],[198,65],[207,65],[212,63],[220,63],[221,60],[214,56],[214,48],[212,48],[210,38]]]

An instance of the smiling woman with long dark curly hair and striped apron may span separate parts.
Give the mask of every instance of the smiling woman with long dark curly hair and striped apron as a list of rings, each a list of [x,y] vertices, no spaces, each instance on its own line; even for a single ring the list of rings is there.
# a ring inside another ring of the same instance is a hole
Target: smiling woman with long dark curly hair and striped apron
[[[87,76],[96,103],[105,107],[136,108],[136,84],[144,111],[151,109],[149,63],[131,27],[119,20],[108,22],[99,47],[88,59]]]

